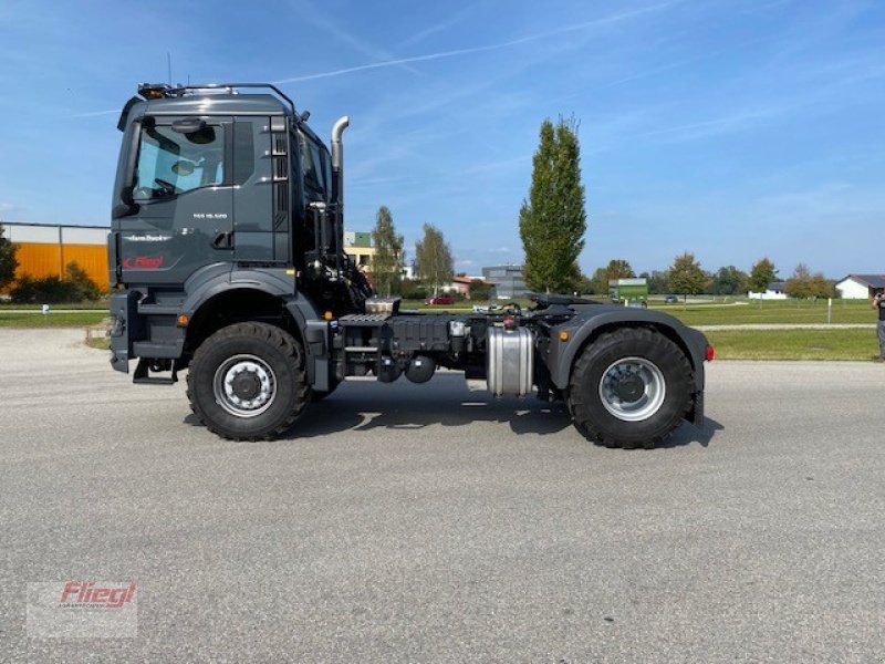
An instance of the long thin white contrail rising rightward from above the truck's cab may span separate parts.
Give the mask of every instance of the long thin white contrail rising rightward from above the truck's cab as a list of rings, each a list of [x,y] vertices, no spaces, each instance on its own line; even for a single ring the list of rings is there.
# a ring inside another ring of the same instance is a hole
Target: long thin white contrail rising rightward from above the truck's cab
[[[607,17],[602,17],[598,19],[592,19],[590,21],[583,21],[581,23],[575,23],[573,25],[568,25],[565,28],[558,28],[555,30],[548,30],[544,32],[537,32],[534,34],[529,34],[525,37],[521,37],[518,39],[512,39],[504,42],[498,42],[493,44],[485,44],[481,46],[469,46],[466,49],[454,49],[451,51],[440,51],[437,53],[427,53],[425,55],[414,55],[412,58],[399,58],[395,60],[384,60],[381,62],[369,62],[366,64],[357,64],[354,66],[347,66],[343,69],[332,70],[327,72],[317,72],[314,74],[304,74],[300,76],[291,76],[289,79],[280,79],[279,81],[274,81],[278,85],[282,85],[285,83],[300,83],[303,81],[315,81],[317,79],[330,79],[333,76],[342,76],[345,74],[353,74],[356,72],[364,72],[369,70],[376,69],[384,69],[388,66],[397,66],[402,64],[412,64],[416,62],[429,62],[433,60],[444,60],[447,58],[457,58],[460,55],[471,55],[476,53],[488,53],[491,51],[500,51],[503,49],[510,49],[512,46],[518,46],[521,44],[528,44],[545,39],[550,39],[553,37],[561,37],[563,34],[569,34],[573,32],[583,32],[586,30],[591,30],[593,28],[601,28],[603,25],[610,25],[612,23],[617,23],[620,21],[625,21],[628,19],[637,18],[644,14],[653,13],[663,11],[676,4],[680,4],[684,0],[671,0],[670,2],[660,2],[658,4],[652,4],[648,7],[644,7],[641,9],[634,9],[629,11],[624,11],[616,14],[611,14]]]

